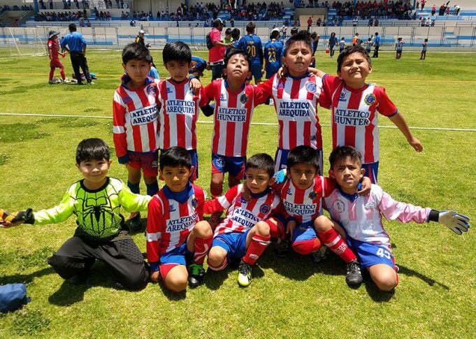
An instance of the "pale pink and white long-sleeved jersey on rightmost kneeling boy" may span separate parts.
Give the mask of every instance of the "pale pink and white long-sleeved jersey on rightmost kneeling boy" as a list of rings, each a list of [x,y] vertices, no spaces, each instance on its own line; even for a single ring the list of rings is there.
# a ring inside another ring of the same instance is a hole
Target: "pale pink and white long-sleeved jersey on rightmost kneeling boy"
[[[372,185],[370,195],[349,195],[336,188],[324,199],[324,207],[347,234],[365,243],[389,247],[390,238],[382,224],[382,215],[399,222],[428,222],[431,208],[421,208],[391,199],[378,185]]]

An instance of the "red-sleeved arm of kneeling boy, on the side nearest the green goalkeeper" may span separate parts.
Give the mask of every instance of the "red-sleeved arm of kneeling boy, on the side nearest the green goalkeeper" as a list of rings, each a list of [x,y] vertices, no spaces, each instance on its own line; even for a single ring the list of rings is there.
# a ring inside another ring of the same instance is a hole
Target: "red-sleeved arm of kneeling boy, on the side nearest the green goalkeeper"
[[[160,279],[160,241],[162,225],[162,205],[159,199],[154,198],[148,205],[147,227],[145,237],[147,238],[146,251],[147,261],[150,264],[150,279],[158,282]]]

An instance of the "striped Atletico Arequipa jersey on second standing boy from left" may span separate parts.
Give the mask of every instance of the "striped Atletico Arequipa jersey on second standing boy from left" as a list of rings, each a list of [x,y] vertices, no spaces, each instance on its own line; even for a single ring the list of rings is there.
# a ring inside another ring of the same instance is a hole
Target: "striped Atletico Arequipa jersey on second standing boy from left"
[[[201,95],[195,95],[190,81],[180,83],[171,79],[159,84],[161,111],[159,113],[159,147],[166,150],[173,146],[196,150],[196,120],[199,116]],[[204,106],[205,103],[203,103]]]

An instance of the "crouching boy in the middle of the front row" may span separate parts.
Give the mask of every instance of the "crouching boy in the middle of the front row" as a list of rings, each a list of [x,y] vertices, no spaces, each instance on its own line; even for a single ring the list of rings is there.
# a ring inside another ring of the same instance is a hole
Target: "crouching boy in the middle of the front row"
[[[251,283],[251,270],[271,240],[271,213],[278,208],[280,199],[268,186],[273,177],[273,158],[268,154],[254,154],[246,161],[245,185],[249,199],[243,199],[245,185],[229,189],[205,203],[205,213],[227,210],[226,218],[215,229],[212,247],[208,254],[208,267],[213,271],[224,269],[232,259],[240,259],[238,284]]]

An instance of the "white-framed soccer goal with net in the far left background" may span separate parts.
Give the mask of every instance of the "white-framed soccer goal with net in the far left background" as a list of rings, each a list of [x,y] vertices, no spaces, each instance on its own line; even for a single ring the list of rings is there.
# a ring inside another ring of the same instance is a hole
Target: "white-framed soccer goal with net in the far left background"
[[[8,28],[6,43],[11,56],[47,55],[43,29]]]

